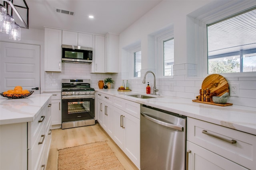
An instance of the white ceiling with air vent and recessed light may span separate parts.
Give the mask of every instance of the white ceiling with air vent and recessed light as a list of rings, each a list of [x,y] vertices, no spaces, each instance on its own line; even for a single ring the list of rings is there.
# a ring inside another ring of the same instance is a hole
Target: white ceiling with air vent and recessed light
[[[13,1],[24,6],[23,0]],[[26,3],[29,8],[29,28],[44,29],[46,26],[105,35],[108,32],[121,33],[161,1],[26,0]],[[57,13],[56,8],[74,12],[74,16]],[[22,10],[20,13],[25,20],[26,16],[23,16],[26,13]],[[89,19],[89,15],[93,15],[94,19]]]

